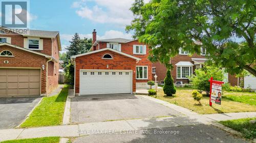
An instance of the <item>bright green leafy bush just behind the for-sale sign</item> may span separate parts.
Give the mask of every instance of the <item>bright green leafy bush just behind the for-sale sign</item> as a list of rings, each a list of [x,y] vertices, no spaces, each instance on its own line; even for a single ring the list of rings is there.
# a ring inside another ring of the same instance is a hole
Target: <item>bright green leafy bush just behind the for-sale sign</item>
[[[193,89],[198,90],[200,93],[204,91],[207,95],[210,93],[210,82],[208,81],[210,77],[219,81],[224,78],[222,70],[218,67],[205,66],[202,69],[196,69],[195,72],[196,75],[189,77]]]

